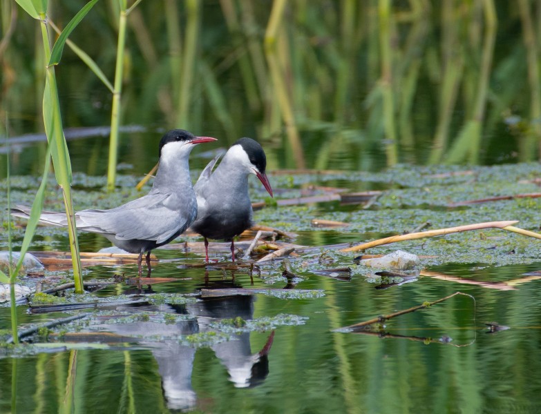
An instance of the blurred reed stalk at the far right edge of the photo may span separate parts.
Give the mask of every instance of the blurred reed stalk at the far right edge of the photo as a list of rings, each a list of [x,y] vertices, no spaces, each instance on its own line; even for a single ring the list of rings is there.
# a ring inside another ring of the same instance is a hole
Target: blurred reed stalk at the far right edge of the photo
[[[528,159],[535,158],[535,144],[538,144],[538,152],[541,156],[541,84],[539,79],[538,46],[535,41],[535,29],[531,19],[530,2],[518,1],[520,20],[522,21],[522,38],[526,46],[528,63],[528,81],[530,87],[530,121],[531,128],[529,137],[524,148],[524,155]]]

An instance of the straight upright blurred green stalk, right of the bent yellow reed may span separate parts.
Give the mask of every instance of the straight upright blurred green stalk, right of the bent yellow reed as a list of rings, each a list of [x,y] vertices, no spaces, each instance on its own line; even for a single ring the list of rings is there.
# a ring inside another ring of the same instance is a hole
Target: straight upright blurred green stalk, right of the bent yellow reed
[[[379,48],[381,53],[381,92],[383,94],[383,129],[387,165],[398,163],[398,143],[395,126],[395,97],[392,79],[390,0],[379,0]]]

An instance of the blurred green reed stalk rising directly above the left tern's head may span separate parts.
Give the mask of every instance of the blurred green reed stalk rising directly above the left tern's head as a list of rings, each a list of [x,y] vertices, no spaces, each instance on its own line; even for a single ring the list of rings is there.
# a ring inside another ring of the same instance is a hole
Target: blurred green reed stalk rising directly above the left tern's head
[[[193,91],[193,75],[196,70],[196,54],[200,21],[200,1],[186,0],[186,39],[184,57],[182,59],[182,77],[178,94],[177,122],[182,128],[191,128],[191,92]]]

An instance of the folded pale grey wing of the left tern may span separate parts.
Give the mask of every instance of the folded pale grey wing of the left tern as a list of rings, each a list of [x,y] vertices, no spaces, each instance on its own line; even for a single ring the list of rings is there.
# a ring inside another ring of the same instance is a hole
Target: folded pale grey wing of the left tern
[[[120,240],[155,240],[162,243],[191,224],[190,214],[183,215],[167,206],[169,197],[173,196],[150,193],[111,210],[82,210],[77,213],[80,228],[114,234]]]

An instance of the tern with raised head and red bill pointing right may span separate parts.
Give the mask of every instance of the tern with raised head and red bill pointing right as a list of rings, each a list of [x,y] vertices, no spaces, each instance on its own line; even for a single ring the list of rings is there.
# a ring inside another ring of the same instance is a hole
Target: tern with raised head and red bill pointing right
[[[142,257],[151,273],[153,248],[171,242],[197,217],[197,201],[191,184],[188,158],[196,144],[216,141],[196,137],[185,130],[170,130],[160,141],[160,164],[149,194],[111,210],[89,208],[75,213],[79,230],[98,233],[129,253],[138,253],[137,265],[142,274]],[[30,208],[16,206],[12,215],[27,218]],[[67,226],[65,213],[44,211],[40,221]]]

